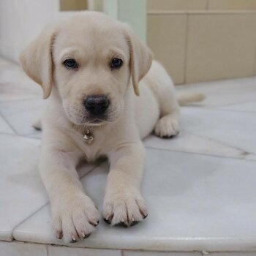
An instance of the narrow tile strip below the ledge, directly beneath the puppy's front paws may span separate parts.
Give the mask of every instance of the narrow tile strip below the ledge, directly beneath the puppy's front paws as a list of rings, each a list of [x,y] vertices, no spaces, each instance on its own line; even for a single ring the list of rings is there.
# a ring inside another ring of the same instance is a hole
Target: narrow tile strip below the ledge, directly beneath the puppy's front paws
[[[122,256],[121,251],[111,249],[68,248],[48,246],[48,256]]]

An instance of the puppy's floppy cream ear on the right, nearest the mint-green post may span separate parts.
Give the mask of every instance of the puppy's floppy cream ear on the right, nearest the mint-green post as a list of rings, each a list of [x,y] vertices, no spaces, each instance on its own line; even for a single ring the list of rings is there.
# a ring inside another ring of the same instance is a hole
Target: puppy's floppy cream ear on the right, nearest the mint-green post
[[[129,26],[126,26],[126,37],[129,45],[129,65],[132,75],[132,85],[135,94],[140,96],[138,84],[151,67],[153,53],[140,39],[135,37]]]

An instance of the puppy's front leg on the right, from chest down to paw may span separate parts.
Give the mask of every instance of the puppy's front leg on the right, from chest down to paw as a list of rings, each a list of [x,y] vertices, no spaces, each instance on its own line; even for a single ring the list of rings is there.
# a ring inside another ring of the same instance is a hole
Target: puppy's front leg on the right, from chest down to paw
[[[109,155],[103,218],[110,225],[132,226],[148,215],[140,194],[145,149],[141,142],[121,146]]]

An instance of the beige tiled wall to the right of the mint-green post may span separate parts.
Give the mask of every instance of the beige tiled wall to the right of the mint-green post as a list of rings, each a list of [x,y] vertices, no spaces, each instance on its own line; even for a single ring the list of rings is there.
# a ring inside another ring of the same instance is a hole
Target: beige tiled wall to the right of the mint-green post
[[[148,0],[147,33],[176,84],[256,74],[255,0]]]

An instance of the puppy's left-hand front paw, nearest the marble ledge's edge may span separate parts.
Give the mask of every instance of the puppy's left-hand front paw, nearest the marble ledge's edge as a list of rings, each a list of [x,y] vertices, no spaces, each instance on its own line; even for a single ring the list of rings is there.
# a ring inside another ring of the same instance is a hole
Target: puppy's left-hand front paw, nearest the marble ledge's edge
[[[87,238],[99,224],[99,214],[92,200],[86,195],[64,198],[53,203],[53,229],[58,239],[76,242]]]

